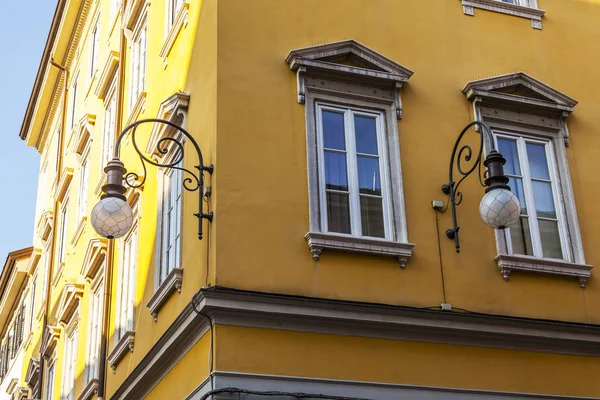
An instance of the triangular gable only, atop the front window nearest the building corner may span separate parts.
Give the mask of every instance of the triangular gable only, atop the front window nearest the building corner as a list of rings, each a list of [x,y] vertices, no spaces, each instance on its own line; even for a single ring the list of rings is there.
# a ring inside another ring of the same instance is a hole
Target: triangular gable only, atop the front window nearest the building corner
[[[379,73],[384,79],[400,82],[408,81],[413,74],[408,68],[352,39],[292,50],[285,61],[293,71],[304,66],[356,74],[375,73],[374,77]]]

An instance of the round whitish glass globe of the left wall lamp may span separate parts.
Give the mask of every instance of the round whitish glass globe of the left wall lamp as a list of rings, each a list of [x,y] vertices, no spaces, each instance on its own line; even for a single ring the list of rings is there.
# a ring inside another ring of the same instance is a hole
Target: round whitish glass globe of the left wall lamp
[[[92,226],[100,236],[115,239],[125,235],[133,225],[133,212],[125,200],[105,197],[92,209]]]

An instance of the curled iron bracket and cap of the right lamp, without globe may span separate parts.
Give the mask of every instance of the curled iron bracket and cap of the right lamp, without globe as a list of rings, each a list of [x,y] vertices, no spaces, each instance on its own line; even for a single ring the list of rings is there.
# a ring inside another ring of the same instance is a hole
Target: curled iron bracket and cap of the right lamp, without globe
[[[473,126],[478,126],[480,128],[479,149],[476,153],[473,153],[473,148],[468,144],[464,144],[461,146],[461,141],[463,137],[465,136],[467,131]],[[484,166],[487,168],[485,174],[483,175],[483,178],[485,180],[482,179],[481,174],[484,133],[488,135],[491,149],[485,161],[483,161]],[[465,163],[472,162],[472,164],[467,165],[465,167],[463,165],[463,161]],[[475,170],[477,170],[479,184],[486,188],[486,193],[493,189],[510,190],[510,187],[507,185],[508,178],[504,175],[503,165],[505,162],[506,160],[504,159],[504,157],[502,157],[502,155],[496,150],[492,130],[485,123],[481,121],[473,121],[467,126],[465,126],[462,132],[458,135],[458,138],[454,143],[454,147],[452,148],[452,155],[450,156],[450,167],[448,169],[448,183],[442,186],[442,192],[444,192],[450,197],[449,200],[452,209],[453,226],[452,228],[446,230],[446,236],[449,239],[454,239],[457,253],[460,252],[460,241],[458,237],[458,231],[460,227],[458,226],[458,220],[456,217],[456,207],[459,206],[463,200],[462,192],[459,190],[461,183]],[[456,170],[460,175],[458,182],[454,178],[455,166]]]

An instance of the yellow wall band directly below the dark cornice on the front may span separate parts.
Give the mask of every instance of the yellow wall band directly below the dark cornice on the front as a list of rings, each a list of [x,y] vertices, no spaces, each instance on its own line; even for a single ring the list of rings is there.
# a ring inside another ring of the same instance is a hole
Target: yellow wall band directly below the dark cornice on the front
[[[600,360],[594,357],[233,326],[219,326],[218,337],[218,371],[569,396],[600,393]]]

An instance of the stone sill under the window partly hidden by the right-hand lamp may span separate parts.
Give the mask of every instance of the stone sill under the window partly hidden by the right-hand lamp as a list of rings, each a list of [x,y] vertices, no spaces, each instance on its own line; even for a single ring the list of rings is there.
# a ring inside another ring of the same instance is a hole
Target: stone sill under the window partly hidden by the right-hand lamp
[[[508,281],[513,271],[537,272],[543,274],[566,276],[577,278],[579,286],[584,289],[594,268],[587,264],[577,264],[563,260],[549,258],[535,258],[523,255],[499,254],[495,258],[500,273],[505,281]]]

